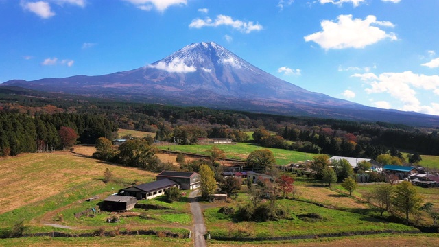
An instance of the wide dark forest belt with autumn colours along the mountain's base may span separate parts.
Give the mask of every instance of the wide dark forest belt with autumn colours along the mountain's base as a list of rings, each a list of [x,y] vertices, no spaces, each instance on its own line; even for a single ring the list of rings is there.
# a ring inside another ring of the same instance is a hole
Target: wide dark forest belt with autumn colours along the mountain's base
[[[160,141],[183,145],[200,137],[244,142],[250,139],[246,132],[254,131],[252,141],[262,146],[316,154],[376,158],[404,150],[439,155],[437,126],[115,102],[14,87],[0,88],[0,114],[3,156],[37,152],[47,143],[64,148],[61,127],[73,129],[78,143],[90,144],[99,137],[116,138],[117,128],[156,132]]]

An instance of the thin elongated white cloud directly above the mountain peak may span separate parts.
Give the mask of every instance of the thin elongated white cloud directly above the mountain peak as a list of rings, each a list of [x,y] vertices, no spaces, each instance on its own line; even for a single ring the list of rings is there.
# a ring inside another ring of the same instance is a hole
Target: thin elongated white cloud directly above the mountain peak
[[[206,19],[195,19],[189,24],[189,27],[193,28],[201,28],[201,27],[218,27],[220,25],[228,25],[233,27],[235,30],[239,30],[239,32],[250,33],[252,31],[262,30],[262,25],[259,23],[254,24],[252,21],[244,22],[240,20],[233,20],[230,16],[218,15],[215,21],[212,21],[209,17]]]

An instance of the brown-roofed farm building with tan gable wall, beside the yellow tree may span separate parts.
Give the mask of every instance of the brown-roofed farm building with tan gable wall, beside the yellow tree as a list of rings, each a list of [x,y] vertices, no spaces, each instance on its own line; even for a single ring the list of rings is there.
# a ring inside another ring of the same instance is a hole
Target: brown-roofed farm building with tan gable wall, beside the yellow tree
[[[163,179],[173,180],[181,189],[196,189],[201,185],[200,174],[196,172],[163,171],[157,175],[157,180]]]

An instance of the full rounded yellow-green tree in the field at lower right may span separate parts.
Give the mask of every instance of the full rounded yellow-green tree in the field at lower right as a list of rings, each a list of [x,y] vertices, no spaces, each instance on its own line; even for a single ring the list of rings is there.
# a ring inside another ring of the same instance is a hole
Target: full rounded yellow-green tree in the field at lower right
[[[395,196],[393,198],[393,205],[396,210],[405,213],[405,220],[409,220],[409,213],[416,213],[419,211],[420,204],[423,203],[423,198],[419,195],[416,187],[408,181],[403,181],[396,185]]]

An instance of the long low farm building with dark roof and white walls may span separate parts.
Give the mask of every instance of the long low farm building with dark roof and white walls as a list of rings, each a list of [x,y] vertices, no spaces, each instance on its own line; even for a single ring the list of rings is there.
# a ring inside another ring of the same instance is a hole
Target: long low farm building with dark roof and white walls
[[[118,194],[121,196],[134,196],[139,200],[151,199],[165,194],[165,190],[171,187],[179,188],[180,185],[173,180],[165,178],[151,183],[144,183],[121,189]]]

